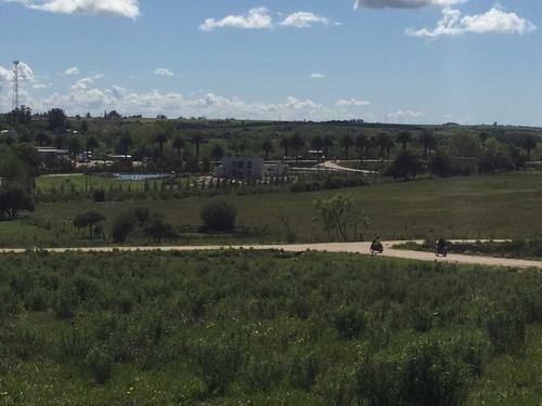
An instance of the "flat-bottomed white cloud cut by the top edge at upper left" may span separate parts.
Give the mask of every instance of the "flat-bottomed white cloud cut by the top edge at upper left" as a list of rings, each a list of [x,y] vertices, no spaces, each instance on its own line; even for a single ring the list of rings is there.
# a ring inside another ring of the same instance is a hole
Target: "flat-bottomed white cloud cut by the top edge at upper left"
[[[51,13],[98,14],[136,18],[140,15],[138,0],[4,0],[22,3],[27,9]]]

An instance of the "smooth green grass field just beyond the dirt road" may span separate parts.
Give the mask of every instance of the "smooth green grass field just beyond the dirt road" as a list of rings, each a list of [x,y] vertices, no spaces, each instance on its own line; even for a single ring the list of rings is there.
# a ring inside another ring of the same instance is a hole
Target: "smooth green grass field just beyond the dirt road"
[[[361,233],[370,239],[379,233],[384,239],[429,238],[529,238],[542,230],[538,219],[542,217],[542,173],[516,172],[492,176],[435,179],[415,182],[387,183],[348,189],[278,194],[223,196],[237,209],[237,228],[242,235],[205,238],[204,244],[274,243],[286,239],[281,217],[288,219],[299,241],[323,241],[326,235],[322,224],[314,219],[313,200],[318,196],[345,193],[363,208],[370,224]],[[153,201],[100,202],[78,201],[39,205],[30,214],[42,228],[36,233],[21,232],[13,235],[12,246],[87,245],[83,236],[70,230],[75,215],[96,210],[106,218],[105,232],[111,228],[115,215],[122,210],[146,206],[165,214],[175,225],[196,227],[201,224],[198,212],[208,198],[185,198]],[[14,224],[25,220],[0,223],[0,232],[14,230]],[[28,222],[26,222],[28,224]],[[16,227],[15,227],[16,228]],[[72,227],[73,228],[73,227]],[[28,230],[28,228],[27,228]],[[75,240],[74,240],[75,238]],[[350,238],[353,239],[352,231]],[[359,239],[360,237],[356,237]],[[0,239],[5,245],[4,239]],[[188,240],[181,240],[185,244]],[[129,244],[144,241],[132,240]],[[192,238],[191,244],[202,244]],[[100,240],[94,241],[100,244]]]

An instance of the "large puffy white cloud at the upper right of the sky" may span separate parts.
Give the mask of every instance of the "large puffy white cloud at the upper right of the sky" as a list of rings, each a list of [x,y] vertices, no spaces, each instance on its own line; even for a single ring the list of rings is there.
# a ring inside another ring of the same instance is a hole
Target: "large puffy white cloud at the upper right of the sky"
[[[413,37],[437,38],[443,35],[457,36],[465,32],[526,34],[535,29],[534,24],[528,19],[521,18],[515,13],[506,13],[499,6],[492,8],[485,14],[465,15],[463,18],[461,18],[459,10],[447,8],[442,10],[442,18],[437,23],[435,29],[414,30],[409,28],[405,34]]]

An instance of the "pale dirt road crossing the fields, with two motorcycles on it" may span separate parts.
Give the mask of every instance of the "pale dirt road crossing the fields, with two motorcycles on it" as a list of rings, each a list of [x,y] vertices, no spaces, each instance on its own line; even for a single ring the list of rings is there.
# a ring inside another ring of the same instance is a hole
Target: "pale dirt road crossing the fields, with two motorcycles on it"
[[[447,258],[435,257],[433,252],[408,251],[391,248],[404,241],[386,241],[384,243],[384,252],[378,256],[389,258],[402,258],[416,261],[444,262],[444,263],[463,263],[478,264],[489,266],[505,266],[516,269],[535,267],[542,270],[542,261],[514,260],[507,258],[493,257],[477,257],[449,254]],[[422,241],[416,241],[421,244]],[[43,248],[49,252],[113,252],[113,251],[193,251],[193,250],[218,250],[218,249],[279,249],[289,252],[302,252],[307,250],[327,251],[327,252],[357,252],[370,254],[371,243],[322,243],[322,244],[288,244],[288,245],[244,245],[244,246],[162,246],[162,247],[80,247],[80,248]],[[26,252],[24,248],[2,248],[0,253],[8,252]]]

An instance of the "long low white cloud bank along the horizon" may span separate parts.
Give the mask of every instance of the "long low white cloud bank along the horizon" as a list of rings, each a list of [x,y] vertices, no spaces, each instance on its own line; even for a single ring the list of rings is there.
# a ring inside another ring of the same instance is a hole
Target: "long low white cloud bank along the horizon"
[[[224,97],[214,93],[190,95],[180,93],[160,93],[151,90],[146,93],[136,93],[114,86],[107,89],[93,88],[91,78],[79,80],[67,94],[54,93],[43,99],[26,96],[25,103],[34,112],[47,112],[51,106],[63,108],[68,115],[93,115],[104,109],[115,109],[122,115],[143,115],[155,117],[165,114],[168,117],[209,118],[249,118],[276,120],[332,120],[362,118],[374,120],[374,115],[366,112],[362,115],[352,114],[341,108],[328,107],[312,100],[287,97],[282,103],[247,102],[238,97]]]

